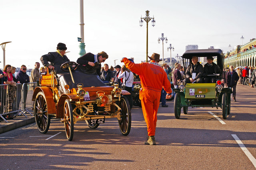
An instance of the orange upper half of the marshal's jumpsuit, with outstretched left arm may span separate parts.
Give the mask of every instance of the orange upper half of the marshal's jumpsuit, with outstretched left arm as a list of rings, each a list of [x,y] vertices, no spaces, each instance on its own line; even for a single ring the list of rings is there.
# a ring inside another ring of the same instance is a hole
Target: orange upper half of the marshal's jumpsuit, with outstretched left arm
[[[128,60],[126,57],[122,59],[125,66],[140,76],[141,87],[143,89],[150,89],[153,91],[161,92],[162,88],[170,94],[171,83],[167,78],[164,69],[157,63],[139,63],[135,64]]]

